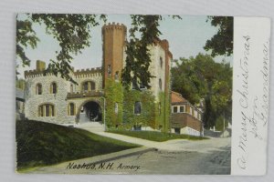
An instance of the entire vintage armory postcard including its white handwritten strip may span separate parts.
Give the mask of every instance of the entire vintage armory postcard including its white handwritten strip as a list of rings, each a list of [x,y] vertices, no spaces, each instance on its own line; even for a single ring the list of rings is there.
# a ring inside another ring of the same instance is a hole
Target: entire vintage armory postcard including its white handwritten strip
[[[16,172],[265,175],[270,19],[16,15]]]

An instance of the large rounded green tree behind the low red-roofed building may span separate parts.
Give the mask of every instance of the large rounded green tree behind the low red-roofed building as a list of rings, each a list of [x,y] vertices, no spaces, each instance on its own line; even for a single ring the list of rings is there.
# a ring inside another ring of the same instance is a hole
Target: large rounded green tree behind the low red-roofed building
[[[216,63],[211,56],[199,54],[180,58],[172,68],[172,89],[192,104],[205,107],[205,127],[215,126],[220,115],[231,120],[232,67]]]

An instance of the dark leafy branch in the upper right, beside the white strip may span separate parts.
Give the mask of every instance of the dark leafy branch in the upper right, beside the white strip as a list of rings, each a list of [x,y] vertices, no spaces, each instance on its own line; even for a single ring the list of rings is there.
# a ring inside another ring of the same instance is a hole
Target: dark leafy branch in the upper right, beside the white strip
[[[205,43],[205,50],[212,50],[211,56],[233,54],[233,16],[208,16],[207,21],[218,27],[218,32]]]

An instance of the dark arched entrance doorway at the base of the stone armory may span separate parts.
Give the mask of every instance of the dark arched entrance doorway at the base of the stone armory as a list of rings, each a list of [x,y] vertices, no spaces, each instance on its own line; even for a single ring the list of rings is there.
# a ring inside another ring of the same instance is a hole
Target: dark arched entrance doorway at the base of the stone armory
[[[80,108],[79,122],[100,122],[101,116],[100,105],[95,101],[89,101]]]

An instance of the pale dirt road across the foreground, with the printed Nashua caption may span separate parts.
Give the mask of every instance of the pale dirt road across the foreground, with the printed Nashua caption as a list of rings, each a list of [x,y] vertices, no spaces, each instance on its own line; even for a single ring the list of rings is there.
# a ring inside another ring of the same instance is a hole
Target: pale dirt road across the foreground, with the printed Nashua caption
[[[212,138],[200,141],[171,140],[158,146],[158,149],[142,154],[106,160],[101,163],[90,163],[92,158],[79,159],[51,167],[37,167],[26,173],[230,174],[230,138]]]

